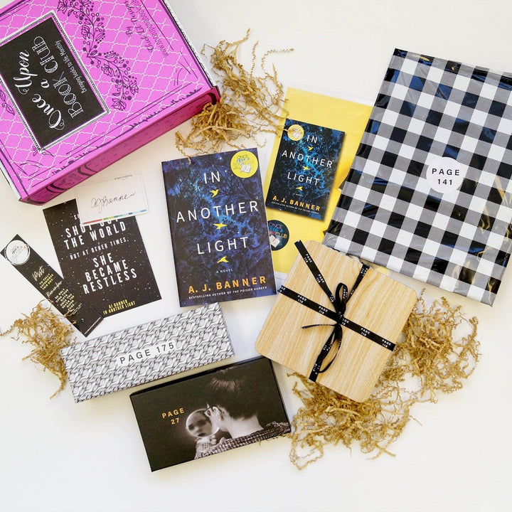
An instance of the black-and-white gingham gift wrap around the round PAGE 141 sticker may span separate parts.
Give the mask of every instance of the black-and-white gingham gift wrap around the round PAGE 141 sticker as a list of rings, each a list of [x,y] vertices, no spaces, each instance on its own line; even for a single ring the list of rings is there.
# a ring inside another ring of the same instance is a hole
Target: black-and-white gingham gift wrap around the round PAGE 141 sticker
[[[486,304],[511,252],[512,75],[395,50],[324,243]],[[458,191],[425,174],[468,166]]]

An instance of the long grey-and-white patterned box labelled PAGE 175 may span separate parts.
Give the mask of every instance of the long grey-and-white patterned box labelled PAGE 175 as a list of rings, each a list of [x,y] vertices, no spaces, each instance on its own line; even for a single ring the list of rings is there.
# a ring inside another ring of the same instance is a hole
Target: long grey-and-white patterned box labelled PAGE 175
[[[63,348],[75,402],[234,355],[219,304]]]

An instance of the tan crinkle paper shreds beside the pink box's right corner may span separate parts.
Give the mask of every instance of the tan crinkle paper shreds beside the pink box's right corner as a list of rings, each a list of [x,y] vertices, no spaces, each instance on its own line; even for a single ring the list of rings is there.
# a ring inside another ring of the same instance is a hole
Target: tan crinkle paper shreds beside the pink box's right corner
[[[176,133],[176,147],[185,156],[219,152],[225,144],[241,149],[236,144],[240,138],[255,139],[260,132],[277,133],[283,119],[284,89],[274,65],[271,72],[267,71],[267,58],[292,50],[267,51],[258,65],[255,43],[252,65],[246,70],[238,60],[238,51],[249,39],[249,33],[250,30],[234,43],[220,41],[215,47],[203,47],[203,55],[209,55],[212,71],[219,78],[221,97],[193,117],[187,135]]]

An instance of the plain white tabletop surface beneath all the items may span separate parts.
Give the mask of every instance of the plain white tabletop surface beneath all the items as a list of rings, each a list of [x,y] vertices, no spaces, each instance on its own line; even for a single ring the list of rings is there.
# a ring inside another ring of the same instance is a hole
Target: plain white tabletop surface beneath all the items
[[[272,60],[285,85],[373,104],[393,48],[512,71],[509,0],[172,0],[188,35],[201,48],[235,41],[252,27],[260,49],[295,48]],[[0,0],[0,6],[7,4]],[[247,58],[250,50],[246,47]],[[246,60],[247,61],[247,60]],[[248,61],[247,61],[248,62]],[[263,140],[262,140],[263,142]],[[272,144],[267,140],[266,151]],[[160,162],[178,157],[171,132],[90,178],[144,174],[151,212],[139,216],[162,300],[105,319],[95,335],[178,313],[171,238]],[[264,166],[263,171],[266,167]],[[49,205],[73,198],[68,191]],[[38,206],[17,203],[0,180],[0,242],[19,233],[58,269]],[[0,327],[27,314],[41,298],[0,262]],[[421,289],[411,279],[403,282]],[[427,287],[429,297],[442,293]],[[463,390],[418,405],[417,420],[393,444],[396,457],[369,460],[354,446],[329,447],[298,471],[289,439],[253,444],[151,474],[130,390],[75,405],[66,388],[48,400],[57,380],[21,358],[28,347],[0,340],[0,509],[2,511],[508,511],[511,469],[512,270],[494,307],[454,294],[479,317],[481,363]],[[223,304],[241,360],[273,297]],[[277,367],[289,415],[299,403],[292,379]],[[136,388],[137,389],[137,388]]]

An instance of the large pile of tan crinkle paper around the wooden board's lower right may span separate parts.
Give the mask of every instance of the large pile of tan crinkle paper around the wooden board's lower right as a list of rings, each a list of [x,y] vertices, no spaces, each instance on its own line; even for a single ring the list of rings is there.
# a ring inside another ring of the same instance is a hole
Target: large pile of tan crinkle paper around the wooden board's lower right
[[[296,383],[294,393],[304,406],[292,421],[292,463],[302,469],[322,457],[326,444],[338,443],[351,448],[357,442],[361,452],[374,457],[394,455],[390,444],[415,419],[412,406],[436,402],[439,392],[462,388],[479,360],[478,321],[466,319],[460,310],[444,298],[427,307],[420,297],[405,324],[405,339],[366,402],[354,402],[295,375],[302,385]],[[456,339],[459,329],[466,336]]]

